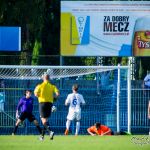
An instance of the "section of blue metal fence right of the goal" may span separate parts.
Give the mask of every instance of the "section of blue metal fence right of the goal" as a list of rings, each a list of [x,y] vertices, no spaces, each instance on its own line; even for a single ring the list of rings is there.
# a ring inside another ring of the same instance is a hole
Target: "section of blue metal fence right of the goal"
[[[131,119],[132,131],[148,133],[150,120],[148,119],[148,102],[150,100],[150,88],[143,88],[143,81],[132,82]]]

